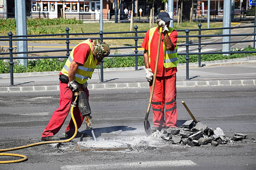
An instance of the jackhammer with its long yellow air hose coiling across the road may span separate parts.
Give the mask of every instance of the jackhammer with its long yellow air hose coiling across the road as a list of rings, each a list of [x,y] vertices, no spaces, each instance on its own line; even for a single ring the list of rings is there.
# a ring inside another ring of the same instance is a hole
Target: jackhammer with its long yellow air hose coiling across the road
[[[87,99],[87,95],[85,94],[84,91],[82,91],[81,86],[79,87],[79,90],[77,90],[76,92],[74,92],[74,96],[75,96],[75,100],[74,102],[72,102],[71,104],[71,118],[74,122],[74,127],[75,127],[75,133],[74,135],[67,139],[67,140],[56,140],[56,141],[46,141],[46,142],[38,142],[38,143],[32,143],[29,145],[24,145],[24,146],[19,146],[19,147],[15,147],[15,148],[8,148],[8,149],[0,149],[0,156],[15,156],[15,157],[20,157],[22,159],[19,160],[5,160],[5,161],[0,161],[0,164],[2,163],[18,163],[18,162],[23,162],[28,160],[28,158],[26,157],[26,155],[21,155],[21,154],[15,154],[15,153],[2,153],[2,152],[6,152],[6,151],[11,151],[11,150],[19,150],[19,149],[24,149],[24,148],[30,148],[33,146],[37,146],[37,145],[44,145],[44,144],[49,144],[49,143],[65,143],[65,142],[69,142],[70,140],[74,139],[75,136],[77,135],[77,122],[74,118],[74,114],[73,114],[73,110],[74,107],[77,106],[77,100],[78,100],[78,107],[79,110],[82,114],[82,116],[84,116],[84,121],[86,123],[86,128],[87,129],[91,129],[92,130],[92,137],[95,141],[96,137],[93,131],[93,126],[92,126],[92,117],[90,116],[91,114],[91,108],[89,105],[89,101]]]

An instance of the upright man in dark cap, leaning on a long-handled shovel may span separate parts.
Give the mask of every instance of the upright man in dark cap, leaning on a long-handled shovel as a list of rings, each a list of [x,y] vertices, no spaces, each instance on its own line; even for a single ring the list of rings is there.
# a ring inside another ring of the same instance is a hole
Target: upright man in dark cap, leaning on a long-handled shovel
[[[149,87],[151,91],[156,65],[159,28],[162,27],[156,84],[152,98],[154,122],[152,132],[155,132],[156,130],[160,131],[162,128],[177,127],[177,31],[169,27],[170,20],[172,20],[172,18],[170,18],[168,13],[159,13],[156,19],[158,27],[151,28],[146,32],[146,36],[141,45],[141,47],[145,49],[144,63],[146,67],[146,79],[149,82]]]

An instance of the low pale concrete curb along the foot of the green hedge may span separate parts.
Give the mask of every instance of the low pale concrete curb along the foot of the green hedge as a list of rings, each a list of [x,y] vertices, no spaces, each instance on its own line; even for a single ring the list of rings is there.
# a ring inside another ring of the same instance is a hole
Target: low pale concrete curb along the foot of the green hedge
[[[244,58],[234,58],[228,60],[215,60],[215,61],[205,61],[201,64],[206,66],[212,65],[223,65],[230,63],[250,63],[256,62],[256,56],[244,57]],[[186,63],[177,64],[177,67],[186,67]],[[189,63],[189,67],[198,67],[198,62]],[[145,69],[145,66],[138,66],[138,70]],[[128,71],[135,70],[135,67],[118,67],[118,68],[104,68],[104,72],[108,71]],[[59,75],[60,71],[49,71],[49,72],[24,72],[24,73],[14,73],[13,77],[31,77],[31,76],[42,76],[42,75]],[[100,69],[95,69],[94,72],[100,72]],[[10,73],[0,74],[0,78],[10,78]]]

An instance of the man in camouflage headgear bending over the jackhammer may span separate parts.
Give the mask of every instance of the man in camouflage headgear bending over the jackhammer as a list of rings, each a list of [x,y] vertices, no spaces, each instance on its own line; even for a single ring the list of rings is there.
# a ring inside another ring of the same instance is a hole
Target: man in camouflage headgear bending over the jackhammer
[[[82,90],[86,93],[89,100],[89,91],[87,89],[87,79],[92,77],[92,73],[99,62],[110,53],[110,48],[105,42],[95,40],[94,42],[87,39],[76,45],[61,72],[59,73],[59,87],[60,87],[60,105],[51,116],[51,120],[44,129],[42,134],[42,141],[60,140],[54,137],[59,132],[63,125],[71,103],[74,100],[74,91],[79,88],[81,84]],[[84,120],[79,108],[74,107],[74,118],[77,122],[77,128],[80,128]],[[75,133],[74,122],[71,119],[66,128],[65,136],[70,138]],[[82,134],[77,132],[77,136]]]

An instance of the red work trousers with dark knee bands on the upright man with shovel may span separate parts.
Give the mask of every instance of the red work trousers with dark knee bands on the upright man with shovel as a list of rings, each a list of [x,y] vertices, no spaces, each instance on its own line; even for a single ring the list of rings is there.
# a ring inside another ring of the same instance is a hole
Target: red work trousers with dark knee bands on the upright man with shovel
[[[151,89],[152,82],[150,83],[150,92]],[[166,77],[156,77],[152,98],[154,126],[164,127],[166,125],[167,128],[177,127],[176,94],[176,74]]]

